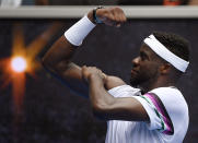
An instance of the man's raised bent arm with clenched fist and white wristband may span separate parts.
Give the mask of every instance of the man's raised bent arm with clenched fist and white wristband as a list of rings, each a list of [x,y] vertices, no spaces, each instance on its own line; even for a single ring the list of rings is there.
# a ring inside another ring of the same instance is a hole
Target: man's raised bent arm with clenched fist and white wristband
[[[119,8],[97,9],[96,16],[110,26],[119,26],[126,21],[125,14]],[[48,71],[61,79],[73,92],[83,96],[89,94],[88,85],[83,81],[81,67],[71,62],[71,58],[95,25],[97,24],[93,19],[92,10],[88,13],[88,17],[81,19],[69,28],[43,58],[43,64]],[[106,80],[107,88],[124,84],[118,78],[107,76]]]

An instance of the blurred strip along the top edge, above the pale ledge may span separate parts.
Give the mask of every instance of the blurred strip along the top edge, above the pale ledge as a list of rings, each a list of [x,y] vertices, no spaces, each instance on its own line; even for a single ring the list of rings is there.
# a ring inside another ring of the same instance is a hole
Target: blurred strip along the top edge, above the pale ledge
[[[20,5],[198,5],[198,0],[0,0],[1,7]]]

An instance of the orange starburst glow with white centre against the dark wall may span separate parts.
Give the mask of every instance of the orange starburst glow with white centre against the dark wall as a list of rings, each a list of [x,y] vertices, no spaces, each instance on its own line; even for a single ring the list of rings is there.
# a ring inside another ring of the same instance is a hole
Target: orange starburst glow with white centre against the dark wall
[[[11,57],[0,59],[0,73],[2,72],[0,81],[3,81],[0,85],[0,91],[9,84],[12,85],[16,116],[18,112],[23,112],[26,74],[35,78],[35,72],[40,68],[36,56],[62,25],[62,23],[51,24],[45,32],[26,45],[22,24],[14,24]]]

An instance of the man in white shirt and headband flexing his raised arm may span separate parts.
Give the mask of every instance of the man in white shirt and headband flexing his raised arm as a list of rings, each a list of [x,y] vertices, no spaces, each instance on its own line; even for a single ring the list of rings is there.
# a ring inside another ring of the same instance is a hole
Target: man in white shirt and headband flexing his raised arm
[[[188,44],[180,36],[153,33],[144,39],[132,60],[133,87],[95,67],[70,61],[97,23],[119,27],[124,22],[119,8],[90,11],[53,45],[43,63],[72,91],[89,95],[94,115],[107,120],[106,143],[180,143],[189,120],[187,104],[175,87],[189,63]]]

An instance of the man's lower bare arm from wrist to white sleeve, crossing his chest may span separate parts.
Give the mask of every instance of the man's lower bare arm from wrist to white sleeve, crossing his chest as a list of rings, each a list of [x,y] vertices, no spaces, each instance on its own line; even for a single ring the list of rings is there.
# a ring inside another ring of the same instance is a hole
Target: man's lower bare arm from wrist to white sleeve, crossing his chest
[[[90,99],[94,115],[105,120],[149,121],[142,105],[132,97],[115,98],[104,88],[100,76],[91,76]]]

